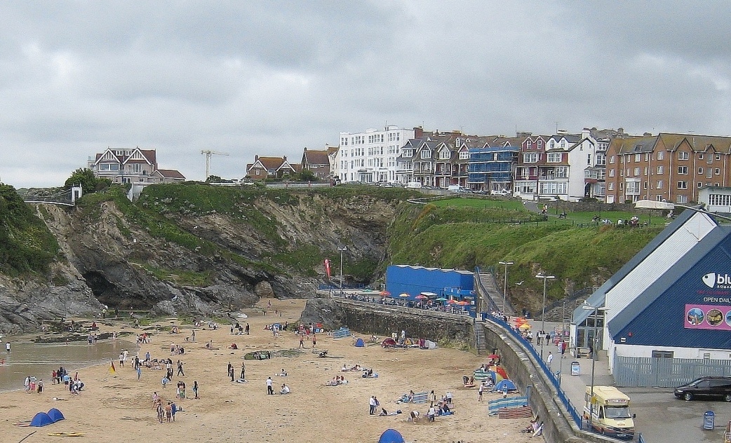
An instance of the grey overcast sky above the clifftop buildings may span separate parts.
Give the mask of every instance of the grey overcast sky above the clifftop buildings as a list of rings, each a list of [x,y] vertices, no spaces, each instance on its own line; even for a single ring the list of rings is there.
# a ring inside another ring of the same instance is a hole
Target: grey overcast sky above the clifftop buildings
[[[106,147],[243,177],[388,124],[731,135],[731,2],[4,1],[0,180]]]

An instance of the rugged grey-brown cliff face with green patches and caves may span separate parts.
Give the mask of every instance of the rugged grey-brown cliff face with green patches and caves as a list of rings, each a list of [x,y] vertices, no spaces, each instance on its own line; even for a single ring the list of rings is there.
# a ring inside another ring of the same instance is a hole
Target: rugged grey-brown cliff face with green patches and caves
[[[344,274],[372,274],[385,255],[397,200],[282,196],[280,203],[270,191],[246,193],[238,209],[224,213],[165,194],[134,205],[118,199],[72,209],[39,205],[37,215],[56,236],[60,258],[45,276],[0,274],[0,331],[99,315],[105,305],[158,315],[225,315],[262,296],[313,296],[325,280],[323,258],[337,276],[342,245],[348,247]]]

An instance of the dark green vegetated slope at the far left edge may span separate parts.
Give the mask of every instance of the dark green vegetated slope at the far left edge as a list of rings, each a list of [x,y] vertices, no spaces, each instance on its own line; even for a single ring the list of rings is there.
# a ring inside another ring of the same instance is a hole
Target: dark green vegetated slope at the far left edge
[[[45,272],[57,254],[56,238],[32,207],[15,188],[0,184],[0,272]]]

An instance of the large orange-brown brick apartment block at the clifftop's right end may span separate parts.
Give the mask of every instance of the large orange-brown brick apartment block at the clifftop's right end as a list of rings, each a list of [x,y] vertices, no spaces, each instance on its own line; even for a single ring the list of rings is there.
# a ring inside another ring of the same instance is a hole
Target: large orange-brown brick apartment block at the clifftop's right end
[[[731,137],[660,133],[613,139],[607,203],[641,199],[686,204],[701,188],[731,184]]]

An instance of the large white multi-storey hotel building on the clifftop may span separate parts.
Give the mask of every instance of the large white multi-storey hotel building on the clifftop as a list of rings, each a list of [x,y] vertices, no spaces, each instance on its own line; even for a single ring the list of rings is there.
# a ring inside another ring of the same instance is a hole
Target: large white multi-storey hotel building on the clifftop
[[[382,131],[341,132],[333,177],[347,182],[396,182],[396,158],[414,129],[386,126]]]

